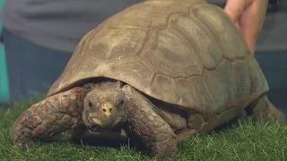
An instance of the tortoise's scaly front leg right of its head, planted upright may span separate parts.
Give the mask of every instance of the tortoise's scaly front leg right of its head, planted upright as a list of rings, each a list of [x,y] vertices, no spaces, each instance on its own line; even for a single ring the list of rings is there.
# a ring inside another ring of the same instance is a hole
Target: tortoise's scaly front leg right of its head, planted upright
[[[177,137],[170,125],[162,119],[161,115],[155,113],[152,103],[136,89],[125,85],[123,90],[126,95],[128,125],[135,137],[143,140],[152,157],[175,158]]]

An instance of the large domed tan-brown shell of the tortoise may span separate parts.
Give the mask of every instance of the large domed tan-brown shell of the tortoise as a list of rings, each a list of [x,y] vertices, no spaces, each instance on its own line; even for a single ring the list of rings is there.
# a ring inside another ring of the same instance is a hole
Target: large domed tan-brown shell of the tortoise
[[[144,1],[103,21],[80,41],[48,97],[102,77],[208,113],[248,105],[268,91],[239,30],[204,0]]]

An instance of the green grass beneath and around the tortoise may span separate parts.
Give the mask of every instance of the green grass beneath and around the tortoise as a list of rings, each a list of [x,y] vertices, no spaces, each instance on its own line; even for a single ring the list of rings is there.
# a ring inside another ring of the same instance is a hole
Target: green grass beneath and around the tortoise
[[[13,146],[9,130],[14,119],[39,99],[0,109],[0,160],[152,160],[133,147],[103,148],[74,144],[69,140],[36,143],[29,148]],[[252,123],[245,119],[224,131],[199,134],[178,144],[178,160],[283,161],[287,160],[287,128],[276,123]]]

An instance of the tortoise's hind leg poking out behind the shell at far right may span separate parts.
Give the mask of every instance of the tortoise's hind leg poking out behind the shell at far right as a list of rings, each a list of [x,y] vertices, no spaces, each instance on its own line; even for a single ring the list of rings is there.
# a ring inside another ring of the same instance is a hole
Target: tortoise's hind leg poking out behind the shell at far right
[[[259,97],[257,101],[252,103],[247,108],[248,114],[263,121],[275,121],[286,123],[286,118],[283,112],[276,108],[268,99],[268,97]]]

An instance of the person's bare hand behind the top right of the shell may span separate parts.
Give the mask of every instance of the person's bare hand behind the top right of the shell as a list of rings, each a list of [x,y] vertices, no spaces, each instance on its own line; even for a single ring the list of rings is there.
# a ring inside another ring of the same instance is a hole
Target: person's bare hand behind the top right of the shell
[[[245,38],[252,54],[265,20],[268,0],[227,0],[224,7]]]

